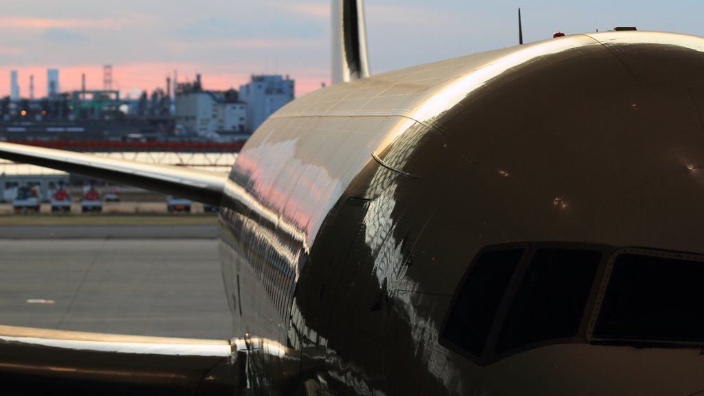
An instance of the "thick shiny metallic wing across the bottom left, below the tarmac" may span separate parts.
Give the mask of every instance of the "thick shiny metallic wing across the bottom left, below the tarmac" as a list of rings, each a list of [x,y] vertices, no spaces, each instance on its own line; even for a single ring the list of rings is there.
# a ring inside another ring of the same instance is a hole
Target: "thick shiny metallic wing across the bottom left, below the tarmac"
[[[233,395],[244,349],[235,339],[0,326],[0,383],[4,395]]]

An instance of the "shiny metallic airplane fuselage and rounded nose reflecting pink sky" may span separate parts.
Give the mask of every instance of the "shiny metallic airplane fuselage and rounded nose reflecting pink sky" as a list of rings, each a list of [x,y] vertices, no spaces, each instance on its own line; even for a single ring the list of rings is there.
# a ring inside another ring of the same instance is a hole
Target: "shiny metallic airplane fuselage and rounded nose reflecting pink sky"
[[[249,349],[252,391],[704,389],[699,340],[593,330],[614,247],[702,252],[702,51],[704,39],[666,33],[568,36],[333,85],[275,113],[241,151],[220,211],[236,335],[277,345]],[[443,323],[474,257],[505,244],[545,256],[507,272],[467,352],[470,330],[447,337]],[[520,286],[524,273],[578,285],[553,289],[571,296],[569,321],[522,316],[551,302]],[[562,328],[541,333],[538,319]]]

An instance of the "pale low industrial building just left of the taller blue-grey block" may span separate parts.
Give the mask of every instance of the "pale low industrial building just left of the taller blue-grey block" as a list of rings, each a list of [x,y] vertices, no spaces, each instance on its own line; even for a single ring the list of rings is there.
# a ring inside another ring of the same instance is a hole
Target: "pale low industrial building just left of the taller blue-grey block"
[[[176,89],[176,128],[201,136],[242,134],[246,130],[247,104],[234,89],[225,92],[203,90],[201,75],[193,83]]]

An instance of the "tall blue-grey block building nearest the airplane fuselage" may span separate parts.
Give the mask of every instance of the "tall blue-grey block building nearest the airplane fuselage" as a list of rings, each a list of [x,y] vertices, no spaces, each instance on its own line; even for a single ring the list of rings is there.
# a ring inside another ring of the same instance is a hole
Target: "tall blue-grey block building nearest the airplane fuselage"
[[[247,102],[247,130],[254,132],[264,120],[294,100],[294,80],[281,75],[252,75],[239,87],[239,99]]]

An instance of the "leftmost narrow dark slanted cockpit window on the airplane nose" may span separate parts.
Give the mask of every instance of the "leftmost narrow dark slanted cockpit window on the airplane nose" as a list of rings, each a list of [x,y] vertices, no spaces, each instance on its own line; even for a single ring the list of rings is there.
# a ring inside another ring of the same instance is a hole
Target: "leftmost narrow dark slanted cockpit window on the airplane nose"
[[[507,249],[479,256],[446,321],[446,340],[482,357],[496,311],[523,252],[524,249]]]

